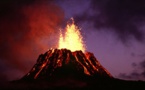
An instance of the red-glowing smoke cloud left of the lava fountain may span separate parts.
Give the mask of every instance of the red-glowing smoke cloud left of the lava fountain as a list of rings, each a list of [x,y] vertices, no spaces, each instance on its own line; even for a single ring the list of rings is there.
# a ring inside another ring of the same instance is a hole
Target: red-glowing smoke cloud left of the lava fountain
[[[37,56],[50,47],[45,41],[57,32],[63,16],[52,0],[1,0],[0,64],[4,65],[0,70],[4,75],[28,72]]]

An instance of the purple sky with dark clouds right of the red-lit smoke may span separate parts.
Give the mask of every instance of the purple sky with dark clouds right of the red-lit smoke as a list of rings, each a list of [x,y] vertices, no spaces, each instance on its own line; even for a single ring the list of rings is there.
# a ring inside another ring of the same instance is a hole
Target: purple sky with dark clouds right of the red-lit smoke
[[[138,65],[145,62],[145,31],[143,25],[145,6],[142,6],[145,5],[144,1],[62,0],[58,2],[58,5],[64,10],[66,19],[75,18],[77,24],[82,28],[87,51],[93,52],[114,77],[145,80],[145,67],[141,68]],[[113,8],[110,8],[111,5],[113,5]],[[105,13],[110,15],[104,15]],[[114,15],[116,16],[113,17]],[[128,19],[120,20],[120,18]],[[116,19],[117,22],[111,19]],[[133,21],[134,19],[136,19],[136,22]],[[104,20],[103,23],[101,20]],[[98,24],[98,27],[94,23]],[[99,24],[104,25],[99,26]],[[113,24],[116,24],[116,26]],[[136,29],[133,29],[135,27]],[[134,64],[136,67],[133,66]],[[144,74],[140,75],[143,72]],[[132,75],[133,73],[136,76]]]

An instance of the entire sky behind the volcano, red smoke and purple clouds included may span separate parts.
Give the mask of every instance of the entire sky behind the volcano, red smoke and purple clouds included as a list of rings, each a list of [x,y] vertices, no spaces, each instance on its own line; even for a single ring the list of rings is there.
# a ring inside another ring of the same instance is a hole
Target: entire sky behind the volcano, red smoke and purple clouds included
[[[145,80],[144,0],[0,0],[0,80],[24,76],[73,17],[116,78]]]

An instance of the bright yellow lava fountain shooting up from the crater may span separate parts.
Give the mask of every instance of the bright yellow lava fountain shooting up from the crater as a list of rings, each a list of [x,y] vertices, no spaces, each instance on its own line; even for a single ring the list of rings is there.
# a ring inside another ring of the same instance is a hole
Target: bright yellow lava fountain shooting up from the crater
[[[71,18],[71,22],[72,23],[67,24],[64,36],[60,30],[58,48],[66,48],[71,51],[82,50],[83,52],[85,52],[85,44],[83,42],[83,37],[80,33],[80,29],[74,24],[73,18]]]

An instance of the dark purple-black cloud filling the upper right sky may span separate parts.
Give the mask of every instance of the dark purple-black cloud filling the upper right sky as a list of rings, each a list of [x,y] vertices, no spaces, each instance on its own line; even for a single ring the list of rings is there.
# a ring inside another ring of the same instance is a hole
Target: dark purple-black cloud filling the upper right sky
[[[140,30],[145,23],[144,0],[91,0],[90,7],[81,15],[75,15],[77,23],[92,23],[96,30],[113,32],[122,41],[134,38],[144,42],[144,32]]]

